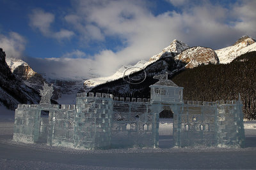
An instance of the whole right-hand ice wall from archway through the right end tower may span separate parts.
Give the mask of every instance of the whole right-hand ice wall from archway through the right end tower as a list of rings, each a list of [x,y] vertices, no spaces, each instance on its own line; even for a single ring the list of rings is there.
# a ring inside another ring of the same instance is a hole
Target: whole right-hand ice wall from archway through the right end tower
[[[184,101],[173,119],[176,146],[244,146],[241,101]]]

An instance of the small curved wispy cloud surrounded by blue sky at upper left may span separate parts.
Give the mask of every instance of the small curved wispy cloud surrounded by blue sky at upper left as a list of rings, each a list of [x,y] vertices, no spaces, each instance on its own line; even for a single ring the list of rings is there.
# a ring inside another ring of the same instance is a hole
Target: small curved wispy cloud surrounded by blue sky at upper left
[[[44,36],[52,37],[56,39],[71,38],[74,36],[73,31],[67,29],[61,29],[54,32],[51,29],[51,24],[54,22],[54,15],[49,12],[45,12],[41,9],[33,10],[29,15],[29,25],[34,29],[38,29]]]

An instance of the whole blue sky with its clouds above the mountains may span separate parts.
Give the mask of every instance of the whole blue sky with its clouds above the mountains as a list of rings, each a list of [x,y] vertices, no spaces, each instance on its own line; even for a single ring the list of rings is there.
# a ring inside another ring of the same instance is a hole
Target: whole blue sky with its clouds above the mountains
[[[0,0],[0,47],[39,73],[108,76],[173,39],[213,49],[256,37],[255,1]]]

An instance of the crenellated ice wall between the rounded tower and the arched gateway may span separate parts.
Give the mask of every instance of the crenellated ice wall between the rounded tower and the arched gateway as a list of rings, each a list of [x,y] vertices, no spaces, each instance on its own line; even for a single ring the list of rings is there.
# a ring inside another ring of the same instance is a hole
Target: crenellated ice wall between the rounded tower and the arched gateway
[[[127,97],[114,98],[111,147],[154,147],[157,115],[152,113],[150,100]],[[130,101],[130,102],[128,102]]]

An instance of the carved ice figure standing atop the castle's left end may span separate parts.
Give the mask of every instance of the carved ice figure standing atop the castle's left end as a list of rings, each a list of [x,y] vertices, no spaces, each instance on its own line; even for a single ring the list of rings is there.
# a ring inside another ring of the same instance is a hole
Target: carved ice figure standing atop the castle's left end
[[[43,90],[40,90],[40,96],[42,96],[40,104],[51,104],[51,97],[53,90],[53,85],[48,86],[47,83],[44,82]]]

